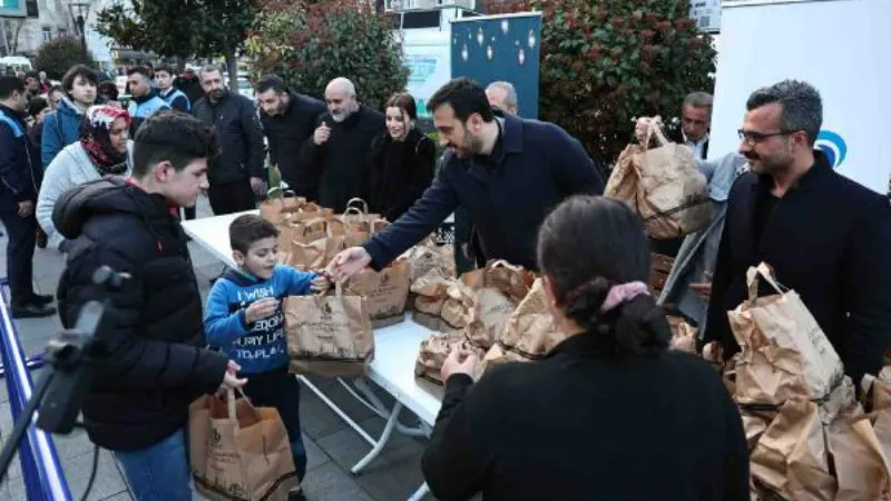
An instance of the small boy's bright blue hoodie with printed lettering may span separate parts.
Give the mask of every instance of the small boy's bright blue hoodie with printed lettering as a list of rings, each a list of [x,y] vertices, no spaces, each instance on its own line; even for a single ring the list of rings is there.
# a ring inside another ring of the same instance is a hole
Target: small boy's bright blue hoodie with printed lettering
[[[210,346],[219,347],[242,366],[257,374],[287,364],[285,315],[281,299],[310,293],[315,273],[276,266],[272,277],[261,281],[244,271],[229,269],[210,289],[204,314],[204,332]],[[280,299],[275,314],[247,325],[247,306],[265,297]]]

